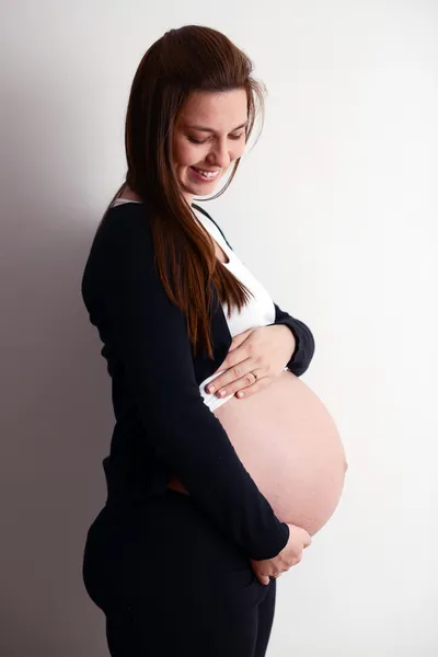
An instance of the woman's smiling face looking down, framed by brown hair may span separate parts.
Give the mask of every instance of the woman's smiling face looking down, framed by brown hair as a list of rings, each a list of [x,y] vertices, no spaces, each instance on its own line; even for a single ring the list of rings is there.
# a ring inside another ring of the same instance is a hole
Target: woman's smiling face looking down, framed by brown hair
[[[188,205],[212,194],[219,178],[245,150],[246,91],[195,92],[174,130],[173,160]],[[203,174],[204,172],[204,174]]]

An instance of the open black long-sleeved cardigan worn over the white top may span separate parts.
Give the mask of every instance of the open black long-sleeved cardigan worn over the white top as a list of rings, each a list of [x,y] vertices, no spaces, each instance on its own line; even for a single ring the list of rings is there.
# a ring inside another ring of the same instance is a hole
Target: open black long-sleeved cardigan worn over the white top
[[[275,516],[199,392],[231,344],[222,307],[214,298],[214,360],[205,353],[194,358],[185,315],[170,301],[154,266],[145,205],[128,203],[107,211],[81,290],[112,378],[116,424],[103,460],[107,509],[163,494],[175,474],[193,503],[247,556],[276,556],[289,528]],[[287,324],[296,337],[287,365],[300,376],[313,357],[312,334],[277,304],[275,312],[275,323]]]

